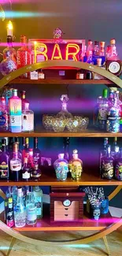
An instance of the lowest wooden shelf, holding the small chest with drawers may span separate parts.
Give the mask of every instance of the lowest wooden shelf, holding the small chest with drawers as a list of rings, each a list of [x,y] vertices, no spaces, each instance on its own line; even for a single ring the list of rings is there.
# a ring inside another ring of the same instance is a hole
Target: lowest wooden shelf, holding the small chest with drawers
[[[48,207],[49,208],[49,207]],[[110,213],[103,214],[102,217],[98,221],[94,221],[90,219],[88,214],[83,215],[83,221],[72,222],[68,221],[63,224],[58,222],[57,224],[50,224],[50,215],[46,213],[43,215],[42,220],[38,220],[35,225],[26,224],[24,228],[13,228],[18,232],[34,232],[34,231],[98,231],[102,230],[109,226],[109,224],[113,224],[118,221],[118,218],[111,217]],[[4,213],[1,213],[0,219],[4,221]]]

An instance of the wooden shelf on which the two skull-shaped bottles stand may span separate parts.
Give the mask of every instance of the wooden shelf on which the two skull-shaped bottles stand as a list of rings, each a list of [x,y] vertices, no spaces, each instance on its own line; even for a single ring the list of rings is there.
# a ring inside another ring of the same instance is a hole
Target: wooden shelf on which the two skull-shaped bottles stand
[[[81,179],[79,181],[72,180],[71,177],[68,177],[65,181],[58,181],[54,171],[50,170],[49,173],[45,174],[43,172],[41,178],[39,181],[29,180],[27,181],[4,181],[0,180],[0,186],[1,187],[7,187],[7,186],[117,186],[122,185],[122,181],[120,180],[102,180],[98,174],[94,173],[94,169],[89,169],[87,173],[83,172]]]

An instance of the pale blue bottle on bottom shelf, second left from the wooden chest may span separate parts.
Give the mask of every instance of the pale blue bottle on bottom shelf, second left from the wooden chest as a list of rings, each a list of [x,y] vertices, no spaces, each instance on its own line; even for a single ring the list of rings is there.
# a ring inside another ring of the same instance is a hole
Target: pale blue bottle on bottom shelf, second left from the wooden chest
[[[28,225],[36,224],[37,213],[36,213],[36,206],[35,206],[33,192],[28,193],[28,199],[26,202],[26,210],[27,210],[27,224]]]

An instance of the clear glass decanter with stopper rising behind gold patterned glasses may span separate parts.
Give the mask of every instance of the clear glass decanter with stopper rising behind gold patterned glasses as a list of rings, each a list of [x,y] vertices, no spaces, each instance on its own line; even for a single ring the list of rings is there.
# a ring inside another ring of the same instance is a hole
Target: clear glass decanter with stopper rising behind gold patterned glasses
[[[62,104],[62,108],[61,111],[59,113],[57,113],[56,117],[59,118],[71,118],[72,117],[72,113],[68,112],[67,106],[68,106],[68,95],[61,95],[61,104]]]

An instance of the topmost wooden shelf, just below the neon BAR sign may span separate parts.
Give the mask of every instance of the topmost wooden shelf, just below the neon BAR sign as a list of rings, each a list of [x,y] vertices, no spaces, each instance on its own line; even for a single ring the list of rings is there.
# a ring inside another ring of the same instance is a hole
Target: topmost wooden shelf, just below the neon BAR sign
[[[59,79],[46,79],[46,80],[29,80],[29,79],[20,79],[17,78],[9,82],[9,84],[111,84],[115,85],[115,83],[109,80],[61,80]]]

